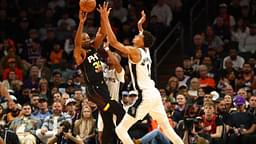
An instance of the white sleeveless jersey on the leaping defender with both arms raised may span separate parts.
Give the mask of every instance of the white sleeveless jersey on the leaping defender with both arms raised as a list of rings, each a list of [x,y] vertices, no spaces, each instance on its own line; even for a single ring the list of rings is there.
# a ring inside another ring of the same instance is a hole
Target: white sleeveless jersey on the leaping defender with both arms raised
[[[155,82],[151,79],[151,57],[148,48],[139,48],[141,60],[134,63],[129,59],[129,69],[131,79],[135,90],[144,90],[155,88]],[[138,85],[138,88],[137,86]]]

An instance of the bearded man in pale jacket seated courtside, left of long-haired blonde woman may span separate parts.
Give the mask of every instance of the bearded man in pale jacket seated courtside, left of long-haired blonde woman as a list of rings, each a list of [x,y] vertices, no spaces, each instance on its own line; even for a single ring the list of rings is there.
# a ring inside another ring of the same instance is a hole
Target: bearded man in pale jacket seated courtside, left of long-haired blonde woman
[[[52,115],[47,117],[41,129],[36,131],[37,137],[44,143],[47,143],[48,139],[57,134],[58,127],[63,121],[68,121],[71,124],[71,118],[69,115],[62,113],[62,105],[60,102],[54,102],[52,104]]]

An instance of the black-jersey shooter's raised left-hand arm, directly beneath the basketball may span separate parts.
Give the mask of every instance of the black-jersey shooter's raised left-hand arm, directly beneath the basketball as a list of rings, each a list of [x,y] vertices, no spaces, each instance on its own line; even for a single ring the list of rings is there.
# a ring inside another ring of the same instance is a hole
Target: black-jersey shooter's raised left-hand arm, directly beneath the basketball
[[[79,25],[75,36],[74,59],[77,65],[80,65],[86,57],[85,51],[82,49],[82,33],[87,13],[79,11]]]

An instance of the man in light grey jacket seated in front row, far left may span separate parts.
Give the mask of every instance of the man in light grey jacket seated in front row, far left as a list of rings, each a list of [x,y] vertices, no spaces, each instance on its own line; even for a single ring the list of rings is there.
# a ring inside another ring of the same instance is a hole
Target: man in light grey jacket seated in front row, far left
[[[20,140],[20,144],[36,144],[35,131],[39,127],[39,121],[31,117],[31,106],[22,106],[22,116],[12,121],[10,129],[13,130]]]

